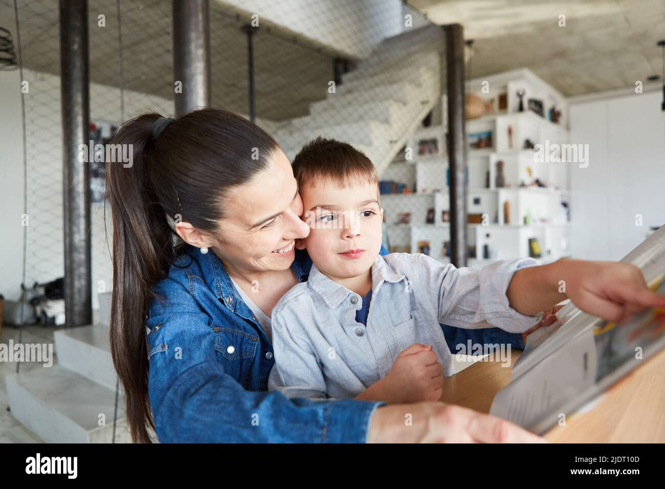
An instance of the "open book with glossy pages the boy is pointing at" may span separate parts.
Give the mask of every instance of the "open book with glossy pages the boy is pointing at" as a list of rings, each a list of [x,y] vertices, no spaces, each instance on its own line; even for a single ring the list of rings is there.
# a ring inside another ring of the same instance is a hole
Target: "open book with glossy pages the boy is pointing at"
[[[642,270],[665,295],[665,226],[621,261]],[[557,322],[527,337],[513,365],[513,381],[497,393],[490,414],[536,433],[581,410],[626,373],[665,348],[665,309],[648,309],[616,325],[583,313],[571,302]]]

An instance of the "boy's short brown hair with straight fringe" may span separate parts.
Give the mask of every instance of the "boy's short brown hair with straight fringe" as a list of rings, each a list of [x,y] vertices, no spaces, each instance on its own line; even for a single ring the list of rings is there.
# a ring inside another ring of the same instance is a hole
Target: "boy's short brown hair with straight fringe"
[[[319,136],[311,140],[293,158],[293,174],[299,186],[321,178],[342,187],[354,182],[376,184],[378,175],[369,158],[346,142]]]

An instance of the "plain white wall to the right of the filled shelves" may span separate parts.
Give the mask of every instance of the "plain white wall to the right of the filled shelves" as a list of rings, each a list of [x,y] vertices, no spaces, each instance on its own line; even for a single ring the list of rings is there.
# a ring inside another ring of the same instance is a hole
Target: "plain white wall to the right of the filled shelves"
[[[654,91],[571,104],[571,142],[589,144],[589,167],[571,168],[574,257],[621,259],[665,224],[661,102]]]

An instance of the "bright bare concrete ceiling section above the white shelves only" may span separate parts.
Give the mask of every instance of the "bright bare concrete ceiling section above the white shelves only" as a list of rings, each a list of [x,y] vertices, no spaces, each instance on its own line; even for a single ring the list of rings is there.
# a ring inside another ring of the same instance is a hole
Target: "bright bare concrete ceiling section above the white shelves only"
[[[471,77],[526,67],[566,96],[662,75],[665,0],[408,0],[473,39]],[[565,27],[559,27],[565,15]]]

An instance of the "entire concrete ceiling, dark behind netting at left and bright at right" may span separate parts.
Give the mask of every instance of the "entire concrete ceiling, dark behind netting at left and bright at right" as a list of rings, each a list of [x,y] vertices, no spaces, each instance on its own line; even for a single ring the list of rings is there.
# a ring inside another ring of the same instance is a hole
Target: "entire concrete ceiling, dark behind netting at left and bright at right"
[[[325,0],[330,1],[330,0]],[[473,39],[470,77],[527,67],[567,96],[634,86],[662,72],[665,0],[409,0],[434,23],[462,23]],[[121,1],[124,86],[173,97],[172,13],[169,0]],[[210,2],[212,99],[248,113],[247,15]],[[98,15],[106,27],[98,27]],[[559,27],[559,15],[566,16]],[[120,85],[115,0],[88,2],[90,79]],[[24,66],[59,74],[55,0],[19,0]],[[13,0],[0,0],[0,25],[15,31]],[[307,114],[325,98],[334,53],[316,40],[261,26],[255,35],[259,118]],[[94,103],[94,101],[93,101]]]

